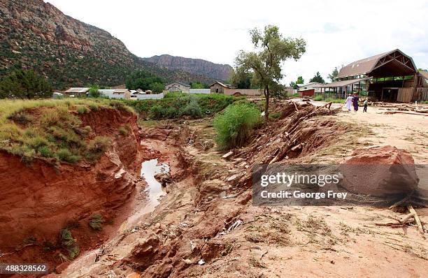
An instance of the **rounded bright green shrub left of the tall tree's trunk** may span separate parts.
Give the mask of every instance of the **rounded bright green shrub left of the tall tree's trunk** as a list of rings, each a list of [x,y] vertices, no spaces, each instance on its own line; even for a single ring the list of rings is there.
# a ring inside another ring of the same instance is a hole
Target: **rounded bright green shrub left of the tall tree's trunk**
[[[261,119],[260,110],[254,105],[248,103],[230,105],[213,121],[217,132],[215,138],[217,147],[224,150],[243,146]]]

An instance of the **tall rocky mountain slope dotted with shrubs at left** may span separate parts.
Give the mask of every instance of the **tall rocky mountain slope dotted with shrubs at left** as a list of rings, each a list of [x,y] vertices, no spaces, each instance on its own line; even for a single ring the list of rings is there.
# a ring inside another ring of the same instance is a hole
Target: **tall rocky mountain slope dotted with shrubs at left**
[[[0,0],[0,38],[0,77],[15,69],[34,69],[57,89],[120,85],[136,69],[166,82],[213,81],[136,57],[107,31],[64,15],[43,0]]]

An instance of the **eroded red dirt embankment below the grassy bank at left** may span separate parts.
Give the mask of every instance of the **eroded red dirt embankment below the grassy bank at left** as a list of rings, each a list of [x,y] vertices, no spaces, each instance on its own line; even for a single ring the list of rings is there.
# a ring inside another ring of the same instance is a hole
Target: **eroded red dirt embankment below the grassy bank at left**
[[[138,167],[150,153],[140,145],[136,115],[102,108],[80,116],[92,136],[108,136],[108,151],[94,164],[62,164],[55,168],[41,159],[30,165],[0,152],[0,252],[3,262],[55,262],[59,231],[73,229],[80,252],[101,240],[87,225],[94,213],[113,220],[115,209],[131,195]],[[126,125],[129,133],[118,132]],[[98,239],[97,239],[98,237]],[[64,253],[64,251],[62,251]],[[66,254],[66,253],[64,253]],[[57,263],[60,263],[58,261]]]

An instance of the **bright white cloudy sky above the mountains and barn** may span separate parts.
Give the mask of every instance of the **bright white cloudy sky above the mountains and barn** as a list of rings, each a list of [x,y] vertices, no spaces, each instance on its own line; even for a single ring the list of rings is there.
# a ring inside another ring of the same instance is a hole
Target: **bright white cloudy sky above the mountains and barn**
[[[119,38],[140,57],[157,54],[231,64],[251,50],[248,31],[276,24],[284,36],[301,37],[306,54],[286,61],[288,84],[320,71],[399,48],[418,68],[428,68],[428,1],[138,1],[45,0],[78,20]]]

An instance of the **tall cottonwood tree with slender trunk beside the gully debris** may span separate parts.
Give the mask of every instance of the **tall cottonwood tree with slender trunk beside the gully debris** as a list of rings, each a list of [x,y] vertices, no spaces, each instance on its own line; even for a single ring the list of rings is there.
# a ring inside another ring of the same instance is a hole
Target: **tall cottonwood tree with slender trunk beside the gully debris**
[[[252,72],[252,83],[264,90],[266,105],[264,117],[269,119],[269,96],[280,89],[283,78],[281,65],[287,59],[298,60],[306,52],[303,38],[283,38],[278,27],[268,25],[264,31],[255,28],[250,31],[255,51],[241,50],[235,59],[236,73]]]

